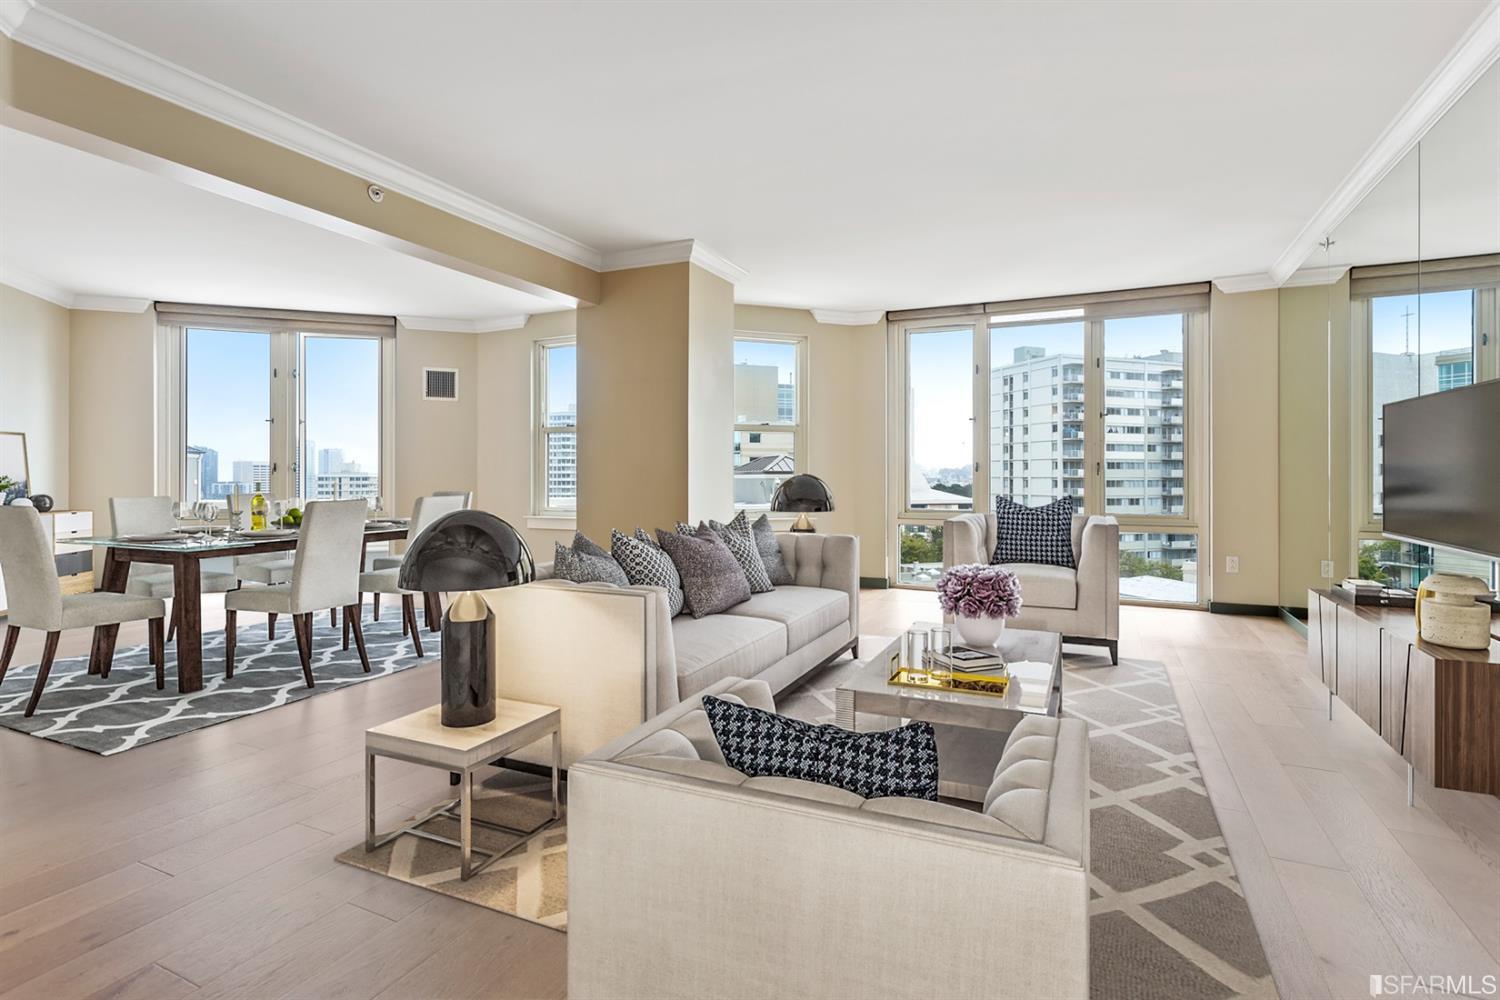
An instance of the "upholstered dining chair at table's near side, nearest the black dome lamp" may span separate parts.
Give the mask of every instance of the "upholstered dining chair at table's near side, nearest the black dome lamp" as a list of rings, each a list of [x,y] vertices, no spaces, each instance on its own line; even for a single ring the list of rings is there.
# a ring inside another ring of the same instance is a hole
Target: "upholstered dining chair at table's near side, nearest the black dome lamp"
[[[312,687],[312,615],[324,607],[342,607],[352,616],[354,642],[360,651],[364,673],[370,670],[360,630],[358,582],[360,553],[364,550],[364,516],[369,505],[362,499],[310,501],[302,517],[297,552],[292,556],[291,580],[278,586],[242,586],[224,595],[224,675],[234,676],[236,625],[240,612],[291,615],[302,657],[302,676]]]

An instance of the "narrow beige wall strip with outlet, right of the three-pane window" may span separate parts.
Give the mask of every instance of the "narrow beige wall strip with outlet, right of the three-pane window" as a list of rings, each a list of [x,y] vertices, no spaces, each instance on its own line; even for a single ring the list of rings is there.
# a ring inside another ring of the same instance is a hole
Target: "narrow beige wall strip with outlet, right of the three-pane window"
[[[1227,295],[1209,306],[1210,600],[1276,606],[1278,525],[1278,294]],[[1239,573],[1224,570],[1239,558]]]

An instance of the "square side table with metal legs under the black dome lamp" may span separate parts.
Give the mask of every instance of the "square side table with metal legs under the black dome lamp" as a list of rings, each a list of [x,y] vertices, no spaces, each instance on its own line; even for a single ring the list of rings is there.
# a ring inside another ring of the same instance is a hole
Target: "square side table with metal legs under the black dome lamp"
[[[402,834],[422,837],[459,849],[459,880],[484,870],[496,858],[502,858],[537,834],[554,826],[562,817],[558,799],[558,774],[561,771],[561,720],[562,711],[554,705],[531,702],[495,702],[495,720],[483,726],[453,729],[442,724],[442,708],[434,705],[420,712],[404,715],[382,726],[364,730],[364,852],[388,844]],[[552,736],[552,817],[524,831],[488,820],[474,819],[474,772],[490,760],[504,757],[528,744]],[[410,763],[426,765],[459,775],[459,798],[429,810],[399,831],[375,834],[375,757],[393,757]],[[453,810],[458,810],[458,816]],[[459,840],[440,837],[422,829],[423,823],[447,816],[459,822]],[[510,834],[514,840],[496,852],[474,847],[474,823],[488,829]],[[474,855],[484,861],[474,864]]]

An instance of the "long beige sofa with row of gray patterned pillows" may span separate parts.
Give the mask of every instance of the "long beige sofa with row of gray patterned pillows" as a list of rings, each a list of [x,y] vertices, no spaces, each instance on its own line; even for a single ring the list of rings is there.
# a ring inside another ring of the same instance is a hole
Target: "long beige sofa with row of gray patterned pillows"
[[[706,618],[672,618],[658,586],[554,580],[550,562],[536,583],[486,591],[500,696],[562,709],[568,766],[723,678],[783,691],[848,649],[858,655],[860,540],[777,541],[794,583]],[[519,759],[550,762],[540,750]]]

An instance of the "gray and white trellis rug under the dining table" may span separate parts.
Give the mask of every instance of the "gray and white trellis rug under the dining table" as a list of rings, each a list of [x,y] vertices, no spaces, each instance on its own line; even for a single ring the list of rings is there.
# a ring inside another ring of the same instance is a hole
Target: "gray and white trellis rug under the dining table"
[[[156,690],[156,672],[146,645],[116,649],[110,676],[88,675],[88,657],[52,663],[46,690],[32,718],[26,702],[36,682],[36,663],[12,663],[0,684],[0,726],[30,733],[96,754],[118,754],[159,739],[189,733],[254,715],[291,702],[338,691],[351,684],[386,678],[430,661],[441,648],[440,633],[423,630],[417,660],[411,639],[400,634],[400,616],[374,622],[364,618],[364,649],[370,672],[360,666],[358,651],[350,640],[342,649],[342,628],[328,627],[327,615],[314,615],[312,679],[302,678],[302,658],[291,621],[278,622],[276,640],[266,640],[266,619],[243,619],[236,642],[234,679],[224,678],[224,633],[204,633],[202,690],[177,693],[176,643],[166,645],[166,688]]]

